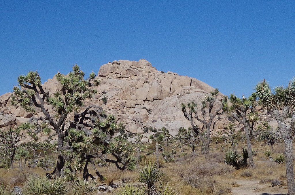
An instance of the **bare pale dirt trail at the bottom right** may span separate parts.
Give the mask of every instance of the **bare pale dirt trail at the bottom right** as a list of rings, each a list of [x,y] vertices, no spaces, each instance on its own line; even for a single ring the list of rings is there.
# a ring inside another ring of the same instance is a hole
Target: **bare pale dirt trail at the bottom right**
[[[236,180],[240,186],[232,188],[233,195],[284,195],[288,193],[286,186],[272,187],[270,183],[259,184],[258,180]]]

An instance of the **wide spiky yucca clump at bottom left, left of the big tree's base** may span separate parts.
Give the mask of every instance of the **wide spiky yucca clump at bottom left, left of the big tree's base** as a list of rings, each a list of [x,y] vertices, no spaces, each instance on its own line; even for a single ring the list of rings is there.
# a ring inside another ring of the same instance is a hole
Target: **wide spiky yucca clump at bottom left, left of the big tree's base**
[[[65,179],[56,178],[49,180],[46,177],[29,176],[24,186],[23,194],[27,195],[67,195],[68,188]]]

